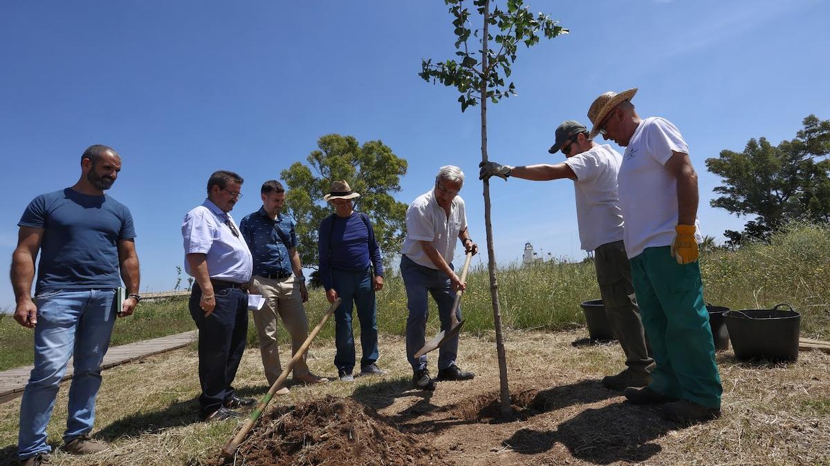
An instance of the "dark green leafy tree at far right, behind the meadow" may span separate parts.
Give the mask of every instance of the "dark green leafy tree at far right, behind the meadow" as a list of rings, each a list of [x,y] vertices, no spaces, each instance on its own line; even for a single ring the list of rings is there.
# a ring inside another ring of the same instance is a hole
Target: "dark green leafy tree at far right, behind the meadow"
[[[725,231],[729,244],[765,240],[784,222],[809,218],[830,221],[830,121],[803,119],[796,138],[774,146],[766,138],[749,139],[743,152],[720,151],[706,167],[724,179],[711,201],[737,216],[754,216],[743,232]]]

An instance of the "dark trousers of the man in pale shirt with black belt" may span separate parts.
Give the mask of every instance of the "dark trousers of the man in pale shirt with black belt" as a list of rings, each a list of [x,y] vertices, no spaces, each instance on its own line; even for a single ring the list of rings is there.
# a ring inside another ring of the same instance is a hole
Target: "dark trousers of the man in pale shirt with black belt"
[[[248,333],[248,294],[242,289],[214,289],[216,308],[207,318],[199,307],[202,289],[193,284],[190,316],[199,329],[199,384],[202,415],[209,415],[233,397],[233,379],[237,376]]]

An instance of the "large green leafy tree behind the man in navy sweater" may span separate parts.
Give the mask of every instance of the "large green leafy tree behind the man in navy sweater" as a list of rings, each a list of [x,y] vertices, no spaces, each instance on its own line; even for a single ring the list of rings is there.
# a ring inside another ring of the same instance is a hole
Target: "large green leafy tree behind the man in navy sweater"
[[[317,228],[334,213],[323,197],[335,180],[345,180],[352,191],[360,193],[354,199],[354,210],[371,219],[388,264],[403,243],[407,205],[395,201],[391,193],[401,190],[407,161],[379,140],[360,145],[353,136],[326,134],[317,140],[317,147],[305,158],[307,164],[295,162],[280,173],[287,186],[286,213],[296,223],[303,266],[315,269],[320,265]]]

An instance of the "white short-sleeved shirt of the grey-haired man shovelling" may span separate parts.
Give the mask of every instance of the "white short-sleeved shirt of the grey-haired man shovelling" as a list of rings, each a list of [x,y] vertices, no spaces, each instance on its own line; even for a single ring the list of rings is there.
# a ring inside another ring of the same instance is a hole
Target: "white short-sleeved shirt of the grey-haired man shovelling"
[[[403,240],[401,253],[418,265],[438,269],[423,252],[418,241],[432,241],[432,246],[442,255],[447,264],[452,263],[456,254],[458,233],[466,229],[464,200],[456,196],[452,200],[450,215],[438,205],[433,190],[418,196],[407,209],[407,237]]]

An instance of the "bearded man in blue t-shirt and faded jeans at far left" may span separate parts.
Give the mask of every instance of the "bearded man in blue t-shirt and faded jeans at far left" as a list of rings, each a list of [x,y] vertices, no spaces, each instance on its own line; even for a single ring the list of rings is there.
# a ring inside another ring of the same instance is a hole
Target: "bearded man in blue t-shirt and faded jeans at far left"
[[[90,454],[107,448],[89,436],[101,383],[100,364],[110,345],[115,316],[129,316],[141,299],[133,217],[126,206],[104,193],[120,170],[121,158],[113,148],[90,146],[81,155],[78,182],[36,197],[17,223],[20,234],[11,273],[17,300],[14,318],[35,329],[35,362],[20,406],[21,464],[48,463],[46,425],[73,356],[61,449]],[[118,307],[115,295],[122,279],[129,298]]]

